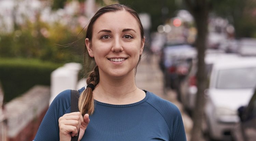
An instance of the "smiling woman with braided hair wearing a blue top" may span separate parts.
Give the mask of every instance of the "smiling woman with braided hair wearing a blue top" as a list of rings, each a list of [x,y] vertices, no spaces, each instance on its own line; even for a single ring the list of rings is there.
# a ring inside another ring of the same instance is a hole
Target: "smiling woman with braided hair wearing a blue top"
[[[70,111],[71,91],[61,92],[35,141],[70,141],[78,131],[79,141],[186,141],[179,109],[136,86],[144,42],[134,10],[120,4],[101,8],[87,28],[85,54],[95,68],[86,80],[89,87],[79,90],[80,112]]]

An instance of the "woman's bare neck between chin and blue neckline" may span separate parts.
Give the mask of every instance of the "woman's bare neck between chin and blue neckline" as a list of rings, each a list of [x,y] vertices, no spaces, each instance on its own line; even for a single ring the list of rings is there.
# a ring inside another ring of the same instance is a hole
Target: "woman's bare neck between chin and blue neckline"
[[[137,88],[133,73],[122,78],[100,75],[100,82],[93,91],[93,95],[97,101],[122,105],[144,99],[145,92]]]

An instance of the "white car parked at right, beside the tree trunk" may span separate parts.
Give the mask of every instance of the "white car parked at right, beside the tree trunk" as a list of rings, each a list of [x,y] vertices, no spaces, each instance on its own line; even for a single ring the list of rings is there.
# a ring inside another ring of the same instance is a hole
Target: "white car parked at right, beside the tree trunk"
[[[234,57],[214,63],[206,91],[206,123],[213,139],[230,140],[240,121],[237,109],[246,106],[256,86],[256,57]]]

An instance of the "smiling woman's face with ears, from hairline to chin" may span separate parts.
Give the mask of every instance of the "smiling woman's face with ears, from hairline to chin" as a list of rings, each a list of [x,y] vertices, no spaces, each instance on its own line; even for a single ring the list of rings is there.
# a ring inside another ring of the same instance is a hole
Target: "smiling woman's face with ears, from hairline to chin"
[[[134,76],[144,41],[138,21],[127,11],[117,11],[104,13],[95,21],[92,39],[86,38],[86,47],[101,76]]]

